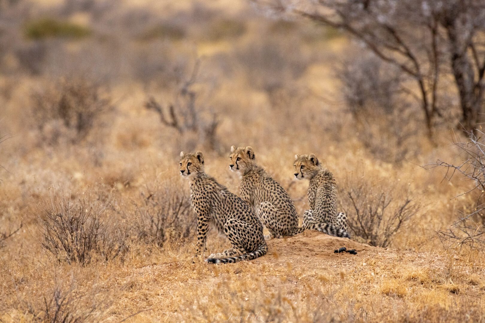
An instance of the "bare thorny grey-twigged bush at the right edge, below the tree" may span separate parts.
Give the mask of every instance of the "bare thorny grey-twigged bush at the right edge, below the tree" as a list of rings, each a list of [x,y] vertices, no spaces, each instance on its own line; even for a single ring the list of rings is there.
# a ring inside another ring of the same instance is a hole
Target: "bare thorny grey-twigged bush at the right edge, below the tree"
[[[462,163],[454,165],[437,160],[436,163],[423,167],[445,168],[447,170],[445,178],[448,180],[457,173],[462,175],[462,180],[471,182],[470,189],[463,194],[476,195],[476,202],[470,213],[460,213],[451,228],[439,231],[438,235],[442,241],[460,246],[485,247],[485,133],[475,129],[475,133],[469,133],[467,141],[455,142],[454,146],[465,158]]]

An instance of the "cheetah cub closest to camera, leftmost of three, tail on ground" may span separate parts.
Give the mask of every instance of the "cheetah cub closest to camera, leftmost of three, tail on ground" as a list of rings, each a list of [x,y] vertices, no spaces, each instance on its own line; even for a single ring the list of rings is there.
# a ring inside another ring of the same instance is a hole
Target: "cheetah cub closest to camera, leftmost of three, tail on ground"
[[[261,221],[241,198],[205,173],[202,152],[180,153],[180,175],[190,181],[192,207],[197,214],[196,257],[205,249],[210,222],[226,235],[232,248],[211,254],[207,262],[252,260],[266,254]]]

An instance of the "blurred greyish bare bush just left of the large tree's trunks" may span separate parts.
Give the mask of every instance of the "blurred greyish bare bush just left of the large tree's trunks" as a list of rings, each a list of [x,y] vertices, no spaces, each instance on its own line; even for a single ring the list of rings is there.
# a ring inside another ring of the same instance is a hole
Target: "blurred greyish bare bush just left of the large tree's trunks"
[[[406,100],[404,78],[372,53],[357,51],[337,71],[357,138],[376,157],[400,163],[419,154],[419,112]],[[415,122],[410,122],[414,120]]]

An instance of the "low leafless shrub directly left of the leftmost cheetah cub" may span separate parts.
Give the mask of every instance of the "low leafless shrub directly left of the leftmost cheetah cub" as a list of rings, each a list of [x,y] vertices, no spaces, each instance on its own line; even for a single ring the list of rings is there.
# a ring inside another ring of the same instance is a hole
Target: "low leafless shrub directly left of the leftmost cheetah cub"
[[[187,193],[165,185],[141,196],[142,204],[135,203],[138,239],[162,247],[193,235],[197,222]]]

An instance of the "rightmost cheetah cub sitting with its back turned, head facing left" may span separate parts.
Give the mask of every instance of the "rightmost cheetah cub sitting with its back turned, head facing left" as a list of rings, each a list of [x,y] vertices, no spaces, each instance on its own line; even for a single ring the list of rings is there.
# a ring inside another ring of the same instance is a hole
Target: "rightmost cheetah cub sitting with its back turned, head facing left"
[[[337,214],[337,189],[333,174],[322,166],[314,154],[295,155],[295,178],[308,179],[307,195],[310,210],[305,211],[303,227],[309,229],[316,223],[332,224],[338,236],[350,238],[347,232],[347,215]]]

